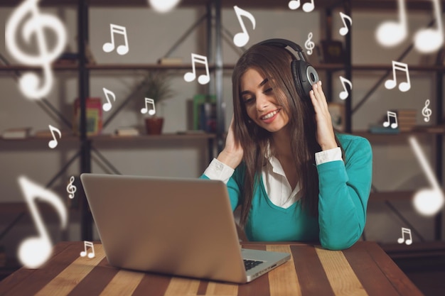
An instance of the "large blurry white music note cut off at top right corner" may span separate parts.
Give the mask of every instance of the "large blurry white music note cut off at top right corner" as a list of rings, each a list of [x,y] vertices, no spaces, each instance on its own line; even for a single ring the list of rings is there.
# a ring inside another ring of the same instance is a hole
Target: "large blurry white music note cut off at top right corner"
[[[414,47],[421,53],[433,53],[444,44],[444,29],[442,28],[441,7],[439,0],[432,0],[436,28],[424,28],[414,35]]]

